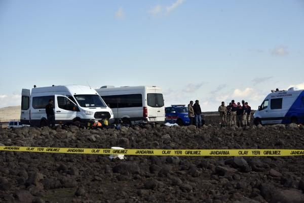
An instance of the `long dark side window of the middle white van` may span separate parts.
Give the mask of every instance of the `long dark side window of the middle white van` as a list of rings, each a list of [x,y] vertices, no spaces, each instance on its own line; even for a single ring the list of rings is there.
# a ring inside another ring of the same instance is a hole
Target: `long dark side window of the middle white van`
[[[110,108],[142,107],[141,94],[102,96],[102,99]]]

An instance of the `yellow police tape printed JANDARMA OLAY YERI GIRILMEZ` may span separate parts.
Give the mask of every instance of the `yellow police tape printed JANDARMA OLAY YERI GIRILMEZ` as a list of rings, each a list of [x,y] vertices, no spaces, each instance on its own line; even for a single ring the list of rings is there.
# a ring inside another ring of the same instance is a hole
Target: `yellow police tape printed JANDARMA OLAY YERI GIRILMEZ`
[[[0,146],[0,151],[24,151],[73,154],[125,154],[150,156],[299,156],[299,149],[98,149]]]

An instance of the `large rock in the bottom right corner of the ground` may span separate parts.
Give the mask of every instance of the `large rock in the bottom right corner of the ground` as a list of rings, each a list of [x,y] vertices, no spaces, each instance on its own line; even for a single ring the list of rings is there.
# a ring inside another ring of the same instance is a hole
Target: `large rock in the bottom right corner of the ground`
[[[304,194],[299,190],[281,190],[274,193],[270,203],[303,203]]]

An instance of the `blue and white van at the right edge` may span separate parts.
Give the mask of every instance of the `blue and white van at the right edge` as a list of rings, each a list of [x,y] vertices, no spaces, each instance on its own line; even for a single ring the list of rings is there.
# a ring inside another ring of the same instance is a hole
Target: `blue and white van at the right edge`
[[[272,91],[253,117],[255,125],[304,123],[304,90]]]

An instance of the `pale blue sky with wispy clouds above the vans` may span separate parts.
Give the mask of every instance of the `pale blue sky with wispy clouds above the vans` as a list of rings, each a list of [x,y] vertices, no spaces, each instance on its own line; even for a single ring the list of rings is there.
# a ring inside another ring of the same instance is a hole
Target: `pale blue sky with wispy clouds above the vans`
[[[304,0],[0,0],[0,108],[33,85],[152,85],[202,111],[304,89]]]

